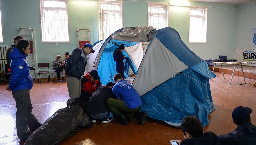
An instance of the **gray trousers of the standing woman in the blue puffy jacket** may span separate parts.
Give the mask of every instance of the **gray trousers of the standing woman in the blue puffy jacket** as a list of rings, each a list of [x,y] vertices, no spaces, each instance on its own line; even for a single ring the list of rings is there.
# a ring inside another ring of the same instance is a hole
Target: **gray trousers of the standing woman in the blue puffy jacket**
[[[30,136],[30,130],[37,129],[41,126],[36,117],[32,114],[32,104],[30,101],[30,90],[18,90],[12,92],[16,101],[16,128],[19,139],[26,139]]]

